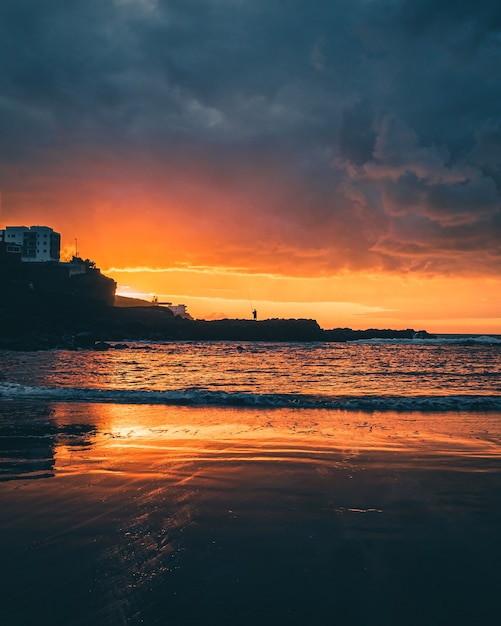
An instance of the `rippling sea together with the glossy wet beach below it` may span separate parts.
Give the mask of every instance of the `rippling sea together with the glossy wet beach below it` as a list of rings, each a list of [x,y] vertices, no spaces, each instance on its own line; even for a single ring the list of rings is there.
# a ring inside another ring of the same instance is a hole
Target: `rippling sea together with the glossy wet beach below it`
[[[481,624],[501,337],[0,351],[5,626]]]

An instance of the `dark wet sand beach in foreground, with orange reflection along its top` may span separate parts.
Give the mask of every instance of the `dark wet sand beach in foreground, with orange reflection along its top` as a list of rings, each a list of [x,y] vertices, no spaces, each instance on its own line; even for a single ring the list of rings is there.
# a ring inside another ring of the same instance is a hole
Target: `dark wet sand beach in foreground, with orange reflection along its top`
[[[0,400],[0,623],[496,623],[500,418]]]

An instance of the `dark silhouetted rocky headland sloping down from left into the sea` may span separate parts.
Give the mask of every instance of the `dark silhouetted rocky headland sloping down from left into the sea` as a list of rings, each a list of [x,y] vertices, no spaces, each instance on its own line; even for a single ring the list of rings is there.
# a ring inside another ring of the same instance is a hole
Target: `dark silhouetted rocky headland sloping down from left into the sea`
[[[43,234],[47,230],[33,228]],[[31,232],[25,227],[21,231]],[[58,258],[59,251],[54,254]],[[314,319],[193,320],[174,314],[172,309],[184,305],[169,308],[115,292],[115,281],[89,259],[26,262],[20,245],[2,242],[0,349],[109,349],[135,340],[341,342],[431,337],[412,328],[324,330]]]

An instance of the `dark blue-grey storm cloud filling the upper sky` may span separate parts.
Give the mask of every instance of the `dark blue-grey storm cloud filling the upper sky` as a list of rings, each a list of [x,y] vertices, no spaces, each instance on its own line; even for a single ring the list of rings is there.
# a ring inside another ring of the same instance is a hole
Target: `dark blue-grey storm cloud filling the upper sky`
[[[88,146],[193,158],[279,181],[333,269],[499,270],[497,1],[4,0],[0,55],[4,190]]]

